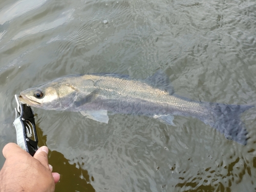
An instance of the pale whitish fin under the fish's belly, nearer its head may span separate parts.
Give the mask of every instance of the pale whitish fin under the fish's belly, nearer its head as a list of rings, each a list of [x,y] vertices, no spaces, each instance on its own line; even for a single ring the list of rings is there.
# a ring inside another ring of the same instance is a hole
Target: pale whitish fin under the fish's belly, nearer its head
[[[93,119],[95,121],[99,121],[101,123],[107,123],[109,122],[109,116],[108,111],[106,110],[99,110],[99,111],[81,111],[80,112],[83,116]]]

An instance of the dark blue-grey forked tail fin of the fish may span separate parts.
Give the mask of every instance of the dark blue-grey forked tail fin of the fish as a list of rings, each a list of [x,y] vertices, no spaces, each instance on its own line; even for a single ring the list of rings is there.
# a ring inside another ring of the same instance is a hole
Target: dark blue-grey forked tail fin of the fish
[[[240,144],[247,144],[247,134],[244,123],[241,121],[241,114],[252,108],[253,105],[236,105],[222,103],[203,103],[209,113],[204,117],[203,122],[224,133],[228,140],[237,141]]]

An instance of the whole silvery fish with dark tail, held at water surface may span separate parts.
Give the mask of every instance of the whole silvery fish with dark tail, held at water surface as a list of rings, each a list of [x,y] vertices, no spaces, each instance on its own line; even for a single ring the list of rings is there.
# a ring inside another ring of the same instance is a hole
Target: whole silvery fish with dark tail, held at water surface
[[[20,92],[19,100],[44,110],[80,112],[101,123],[108,123],[110,114],[143,115],[174,126],[176,115],[194,117],[242,145],[248,132],[240,115],[253,107],[182,97],[163,71],[142,80],[114,73],[68,75]]]

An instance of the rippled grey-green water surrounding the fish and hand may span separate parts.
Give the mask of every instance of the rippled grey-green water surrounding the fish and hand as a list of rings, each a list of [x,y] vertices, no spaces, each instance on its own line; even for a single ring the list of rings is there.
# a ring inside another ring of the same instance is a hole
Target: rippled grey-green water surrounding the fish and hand
[[[0,147],[15,142],[14,94],[62,75],[146,78],[161,69],[177,94],[256,104],[255,1],[1,1]],[[56,191],[255,191],[250,139],[230,142],[203,122],[34,109],[39,146],[61,174]],[[1,166],[4,157],[0,156]]]

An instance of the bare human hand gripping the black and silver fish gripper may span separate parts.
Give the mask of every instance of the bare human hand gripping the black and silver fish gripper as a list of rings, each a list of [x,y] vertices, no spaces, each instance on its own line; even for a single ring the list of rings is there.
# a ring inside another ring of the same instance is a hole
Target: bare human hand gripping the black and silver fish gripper
[[[0,171],[0,191],[54,191],[60,176],[52,173],[48,164],[48,147],[38,148],[32,157],[17,144],[8,143],[3,155],[6,161]]]

